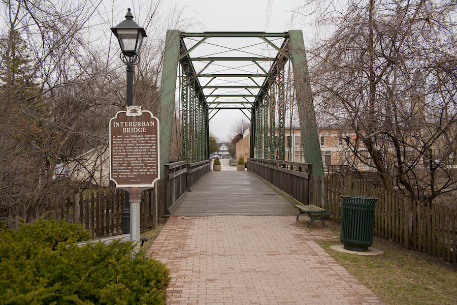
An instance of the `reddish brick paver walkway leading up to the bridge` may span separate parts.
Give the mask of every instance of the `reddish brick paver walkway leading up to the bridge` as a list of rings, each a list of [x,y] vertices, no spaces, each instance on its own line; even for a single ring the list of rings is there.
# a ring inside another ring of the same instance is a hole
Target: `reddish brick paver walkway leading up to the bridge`
[[[170,217],[148,255],[170,268],[168,304],[382,304],[294,216]]]

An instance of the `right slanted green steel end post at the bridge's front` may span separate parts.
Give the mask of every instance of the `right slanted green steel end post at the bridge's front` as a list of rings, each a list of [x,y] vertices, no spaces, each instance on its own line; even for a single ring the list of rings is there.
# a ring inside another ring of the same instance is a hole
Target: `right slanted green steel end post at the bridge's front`
[[[295,85],[300,116],[300,130],[305,158],[304,162],[313,164],[314,175],[323,175],[319,133],[317,130],[316,114],[314,111],[302,31],[289,31],[289,40],[294,78],[293,84]]]

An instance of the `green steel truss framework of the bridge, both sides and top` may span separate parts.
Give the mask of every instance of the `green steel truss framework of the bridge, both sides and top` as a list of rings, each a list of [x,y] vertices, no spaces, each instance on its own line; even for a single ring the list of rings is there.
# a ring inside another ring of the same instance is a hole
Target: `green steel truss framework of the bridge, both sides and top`
[[[323,173],[302,31],[167,31],[160,166],[170,162],[173,137],[179,160],[208,159],[209,122],[227,109],[251,121],[250,158],[284,160],[285,130],[300,126],[303,161]]]

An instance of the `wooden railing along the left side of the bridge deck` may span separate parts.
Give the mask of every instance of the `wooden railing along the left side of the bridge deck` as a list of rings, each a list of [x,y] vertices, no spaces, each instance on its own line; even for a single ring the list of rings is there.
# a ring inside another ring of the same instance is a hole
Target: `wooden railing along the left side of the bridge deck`
[[[211,161],[187,163],[179,161],[165,165],[165,185],[163,208],[165,211],[173,211],[176,206],[186,197],[187,191],[191,190],[197,182],[211,170]]]

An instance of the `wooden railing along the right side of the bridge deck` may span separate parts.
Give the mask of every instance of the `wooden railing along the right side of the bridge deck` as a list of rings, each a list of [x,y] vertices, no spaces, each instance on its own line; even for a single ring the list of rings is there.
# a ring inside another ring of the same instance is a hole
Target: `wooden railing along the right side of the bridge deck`
[[[248,158],[247,164],[249,171],[268,181],[291,198],[303,204],[309,204],[312,164],[254,158]]]

